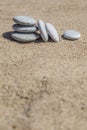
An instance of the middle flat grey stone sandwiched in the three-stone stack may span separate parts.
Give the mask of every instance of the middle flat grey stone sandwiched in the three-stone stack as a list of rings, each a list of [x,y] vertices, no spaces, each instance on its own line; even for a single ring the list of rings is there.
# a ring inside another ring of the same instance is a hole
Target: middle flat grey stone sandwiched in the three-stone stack
[[[38,27],[35,26],[29,27],[29,26],[14,24],[12,27],[16,32],[22,32],[22,33],[31,33],[31,32],[38,31]]]

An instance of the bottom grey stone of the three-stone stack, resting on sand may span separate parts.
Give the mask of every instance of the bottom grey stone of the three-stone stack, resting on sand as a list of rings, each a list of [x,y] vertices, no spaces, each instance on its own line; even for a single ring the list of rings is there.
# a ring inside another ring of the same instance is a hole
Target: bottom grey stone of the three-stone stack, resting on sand
[[[37,33],[23,34],[14,32],[11,34],[11,37],[19,42],[32,42],[37,40],[40,37],[40,35]]]

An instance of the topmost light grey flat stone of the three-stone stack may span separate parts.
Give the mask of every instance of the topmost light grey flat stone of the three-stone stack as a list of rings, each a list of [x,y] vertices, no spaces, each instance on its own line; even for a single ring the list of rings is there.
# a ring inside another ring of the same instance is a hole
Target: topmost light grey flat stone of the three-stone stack
[[[27,25],[33,26],[37,23],[37,21],[34,18],[28,16],[15,16],[13,20],[17,24],[25,25],[25,26]]]

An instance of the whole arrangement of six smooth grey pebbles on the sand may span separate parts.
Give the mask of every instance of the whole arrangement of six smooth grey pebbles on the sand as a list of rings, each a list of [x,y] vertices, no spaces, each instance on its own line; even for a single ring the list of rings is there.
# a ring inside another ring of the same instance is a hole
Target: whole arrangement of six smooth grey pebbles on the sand
[[[13,21],[14,32],[11,37],[18,42],[33,42],[42,38],[44,42],[49,40],[49,37],[54,42],[59,42],[59,34],[51,23],[44,23],[42,20],[38,22],[28,16],[15,16]],[[81,37],[80,33],[75,30],[67,30],[62,35],[63,38],[68,40],[76,40]]]

